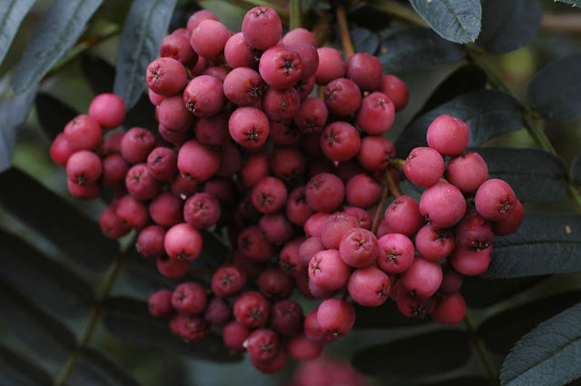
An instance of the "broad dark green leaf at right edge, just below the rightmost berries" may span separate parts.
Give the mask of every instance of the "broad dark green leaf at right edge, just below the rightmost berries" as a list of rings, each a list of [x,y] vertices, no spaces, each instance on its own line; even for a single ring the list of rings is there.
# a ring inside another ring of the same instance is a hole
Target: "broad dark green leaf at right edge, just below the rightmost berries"
[[[495,237],[487,278],[581,272],[581,215],[525,213],[517,233]]]

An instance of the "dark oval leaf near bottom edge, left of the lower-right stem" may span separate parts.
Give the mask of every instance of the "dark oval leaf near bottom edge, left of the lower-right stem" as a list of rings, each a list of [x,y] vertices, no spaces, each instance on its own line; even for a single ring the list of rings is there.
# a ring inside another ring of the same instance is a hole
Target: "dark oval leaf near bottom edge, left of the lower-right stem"
[[[356,370],[373,376],[417,377],[458,369],[469,357],[468,335],[443,330],[371,346],[356,352],[352,363]]]

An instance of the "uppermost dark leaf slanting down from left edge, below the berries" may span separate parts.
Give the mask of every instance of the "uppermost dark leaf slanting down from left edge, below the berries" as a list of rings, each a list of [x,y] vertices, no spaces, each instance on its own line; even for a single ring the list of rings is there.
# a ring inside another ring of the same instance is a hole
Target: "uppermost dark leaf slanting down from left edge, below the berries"
[[[76,262],[105,269],[119,251],[99,225],[70,203],[46,189],[28,174],[10,169],[0,174],[0,203],[5,210],[31,226]]]

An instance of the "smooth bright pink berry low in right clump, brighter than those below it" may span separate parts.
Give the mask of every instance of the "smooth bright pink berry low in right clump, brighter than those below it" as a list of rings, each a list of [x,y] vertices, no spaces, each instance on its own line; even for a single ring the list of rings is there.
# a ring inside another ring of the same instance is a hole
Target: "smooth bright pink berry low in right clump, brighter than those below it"
[[[427,299],[438,291],[442,283],[442,269],[438,262],[428,262],[416,256],[408,270],[399,276],[399,283],[420,298]]]

